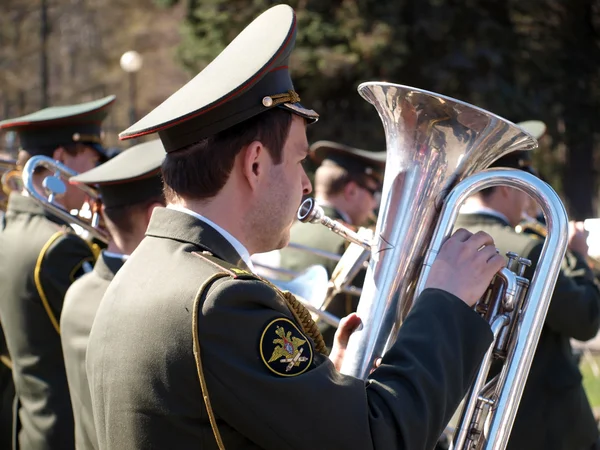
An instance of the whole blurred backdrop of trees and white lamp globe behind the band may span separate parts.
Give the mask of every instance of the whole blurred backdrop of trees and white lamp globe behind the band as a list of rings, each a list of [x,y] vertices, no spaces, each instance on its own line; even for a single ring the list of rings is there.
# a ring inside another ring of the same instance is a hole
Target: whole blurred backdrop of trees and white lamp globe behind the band
[[[106,145],[201,70],[268,0],[0,0],[0,120],[117,95]],[[356,93],[385,80],[513,122],[541,120],[535,165],[572,219],[597,217],[600,0],[298,0],[292,76],[311,141],[385,149]],[[11,134],[0,150],[16,152]],[[600,344],[599,344],[600,347]],[[600,359],[582,369],[600,406]]]

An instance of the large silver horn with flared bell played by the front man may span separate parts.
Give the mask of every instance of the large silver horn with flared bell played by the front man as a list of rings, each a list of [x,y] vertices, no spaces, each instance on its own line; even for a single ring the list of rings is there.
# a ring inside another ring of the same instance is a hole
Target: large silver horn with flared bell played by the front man
[[[509,254],[508,266],[476,306],[489,321],[494,341],[466,398],[454,449],[503,450],[566,251],[564,207],[550,186],[529,173],[484,170],[509,152],[536,147],[535,139],[518,126],[467,103],[407,86],[363,83],[359,93],[377,109],[387,141],[374,239],[357,240],[314,203],[303,204],[298,212],[299,219],[324,224],[370,250],[357,311],[364,326],[350,338],[343,373],[366,378],[374,360],[395,341],[467,197],[508,185],[533,197],[547,219],[549,234],[531,283],[522,276],[529,262]],[[488,382],[493,357],[501,358],[504,366]]]

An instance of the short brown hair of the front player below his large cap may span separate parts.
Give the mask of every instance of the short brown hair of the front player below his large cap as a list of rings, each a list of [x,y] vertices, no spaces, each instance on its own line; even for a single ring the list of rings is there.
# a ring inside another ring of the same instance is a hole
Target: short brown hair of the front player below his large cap
[[[162,164],[165,197],[194,200],[217,195],[227,182],[236,156],[253,141],[266,147],[275,164],[281,163],[283,146],[292,123],[290,112],[273,108],[201,141],[167,153]]]

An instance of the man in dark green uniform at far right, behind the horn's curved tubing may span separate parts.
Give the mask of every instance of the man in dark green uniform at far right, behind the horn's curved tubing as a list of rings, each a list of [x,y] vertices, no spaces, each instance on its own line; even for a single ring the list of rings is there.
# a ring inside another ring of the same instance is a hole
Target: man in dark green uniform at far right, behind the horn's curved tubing
[[[514,152],[494,167],[534,173],[529,152]],[[456,226],[485,231],[501,253],[514,251],[533,262],[525,272],[531,279],[543,246],[534,234],[515,227],[530,198],[506,186],[487,189],[465,202]],[[570,227],[569,251],[563,261],[546,322],[525,386],[508,449],[590,450],[598,429],[581,383],[570,339],[592,339],[600,324],[600,292],[586,264],[585,236]],[[542,274],[543,275],[543,274]]]

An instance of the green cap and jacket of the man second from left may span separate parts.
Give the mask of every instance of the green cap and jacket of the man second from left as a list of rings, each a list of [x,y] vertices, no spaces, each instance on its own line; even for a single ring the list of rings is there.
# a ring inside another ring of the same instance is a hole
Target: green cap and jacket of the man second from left
[[[162,179],[158,172],[164,156],[158,139],[138,144],[70,181],[96,186],[106,208],[136,205],[161,197]],[[65,295],[61,341],[78,450],[99,448],[85,369],[86,350],[100,301],[125,259],[125,255],[103,251],[94,270],[76,280]]]

